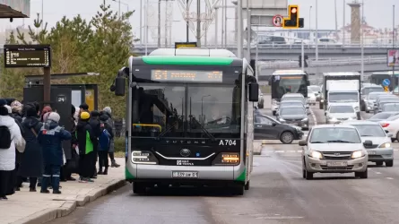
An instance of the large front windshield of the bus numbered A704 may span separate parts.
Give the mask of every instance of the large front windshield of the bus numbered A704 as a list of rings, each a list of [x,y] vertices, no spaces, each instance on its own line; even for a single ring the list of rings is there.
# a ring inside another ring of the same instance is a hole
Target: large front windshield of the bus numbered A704
[[[139,83],[136,92],[133,136],[239,137],[239,87]]]

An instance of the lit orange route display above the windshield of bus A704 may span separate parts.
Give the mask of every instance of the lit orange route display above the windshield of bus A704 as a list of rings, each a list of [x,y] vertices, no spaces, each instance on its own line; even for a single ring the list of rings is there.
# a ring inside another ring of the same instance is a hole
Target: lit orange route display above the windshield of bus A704
[[[163,82],[222,82],[221,71],[152,70],[152,81]]]

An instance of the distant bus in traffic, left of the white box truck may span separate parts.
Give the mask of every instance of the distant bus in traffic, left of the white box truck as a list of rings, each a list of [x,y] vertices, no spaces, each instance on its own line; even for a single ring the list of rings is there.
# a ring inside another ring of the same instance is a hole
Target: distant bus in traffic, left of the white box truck
[[[285,93],[301,93],[308,99],[308,73],[302,70],[277,70],[269,81],[272,89],[272,112],[275,115],[280,99]]]

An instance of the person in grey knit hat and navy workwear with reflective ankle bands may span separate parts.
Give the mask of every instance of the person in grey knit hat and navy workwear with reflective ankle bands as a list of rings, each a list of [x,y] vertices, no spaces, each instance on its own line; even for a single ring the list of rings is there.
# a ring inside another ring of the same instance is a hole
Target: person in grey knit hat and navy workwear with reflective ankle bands
[[[62,142],[72,138],[71,133],[58,125],[60,116],[50,112],[45,125],[42,125],[38,134],[39,144],[42,147],[44,174],[41,180],[40,193],[48,194],[48,184],[53,188],[53,194],[61,194],[59,181],[61,166],[64,165]]]

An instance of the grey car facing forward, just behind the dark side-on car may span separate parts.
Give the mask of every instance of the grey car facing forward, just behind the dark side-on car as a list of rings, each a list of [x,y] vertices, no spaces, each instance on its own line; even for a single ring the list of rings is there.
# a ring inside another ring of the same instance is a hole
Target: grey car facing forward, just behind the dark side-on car
[[[277,120],[281,123],[300,126],[302,129],[309,128],[308,111],[302,106],[281,107]]]

